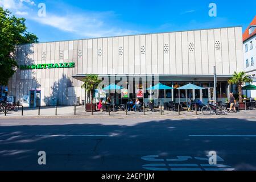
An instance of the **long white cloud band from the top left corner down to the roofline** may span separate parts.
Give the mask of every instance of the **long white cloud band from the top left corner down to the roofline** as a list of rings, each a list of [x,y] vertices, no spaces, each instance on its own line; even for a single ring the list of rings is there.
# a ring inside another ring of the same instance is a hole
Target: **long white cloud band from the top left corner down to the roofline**
[[[138,34],[138,31],[126,28],[126,25],[118,24],[113,12],[76,11],[64,9],[61,14],[57,10],[47,11],[46,17],[39,17],[35,2],[32,0],[0,0],[4,9],[13,11],[16,15],[23,16],[28,20],[57,28],[63,32],[69,32],[79,38],[95,38],[102,36],[117,36],[127,34]],[[115,22],[115,23],[113,23]],[[120,23],[120,22],[119,22]],[[121,22],[122,23],[122,22]],[[125,27],[125,28],[122,28]]]

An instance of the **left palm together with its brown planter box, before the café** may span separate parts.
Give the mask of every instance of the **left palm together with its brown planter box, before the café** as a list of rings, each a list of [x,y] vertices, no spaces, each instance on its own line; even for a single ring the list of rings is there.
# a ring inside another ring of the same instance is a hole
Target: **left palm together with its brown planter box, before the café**
[[[84,82],[84,84],[82,84],[81,88],[90,93],[90,103],[85,104],[85,110],[92,111],[92,107],[93,110],[96,110],[96,106],[93,104],[93,91],[98,86],[98,84],[100,84],[101,80],[98,78],[98,75],[90,74],[82,79],[82,82]]]

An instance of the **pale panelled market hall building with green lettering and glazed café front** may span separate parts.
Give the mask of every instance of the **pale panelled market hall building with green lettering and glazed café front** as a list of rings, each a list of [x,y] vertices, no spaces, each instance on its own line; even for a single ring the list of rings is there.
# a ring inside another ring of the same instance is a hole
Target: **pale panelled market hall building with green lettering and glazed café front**
[[[215,65],[217,100],[225,101],[234,89],[228,78],[234,71],[244,71],[242,43],[242,27],[225,27],[20,45],[16,51],[20,69],[9,81],[8,94],[27,106],[75,105],[88,101],[81,89],[87,74],[135,80],[154,75],[173,88],[189,82],[204,87],[192,90],[188,97],[207,102],[213,97]],[[129,86],[142,89],[140,84]],[[128,95],[137,97],[136,92]],[[185,90],[180,95],[183,101]],[[177,102],[177,89],[159,90],[158,96]],[[117,102],[127,100],[115,97]]]

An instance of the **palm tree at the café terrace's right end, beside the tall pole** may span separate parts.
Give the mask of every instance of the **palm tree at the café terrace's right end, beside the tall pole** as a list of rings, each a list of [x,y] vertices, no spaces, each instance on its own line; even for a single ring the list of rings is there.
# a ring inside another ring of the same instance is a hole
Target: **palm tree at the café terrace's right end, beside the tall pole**
[[[245,72],[234,72],[232,78],[228,80],[229,84],[237,85],[239,102],[242,102],[242,85],[246,82],[253,82],[249,75]]]

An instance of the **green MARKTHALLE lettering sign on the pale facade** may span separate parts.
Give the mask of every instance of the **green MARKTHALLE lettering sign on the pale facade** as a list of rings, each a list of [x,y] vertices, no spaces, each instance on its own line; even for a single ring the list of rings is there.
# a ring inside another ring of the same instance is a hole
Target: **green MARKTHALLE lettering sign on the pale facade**
[[[31,65],[20,65],[19,68],[20,69],[75,68],[75,63],[31,64]]]

